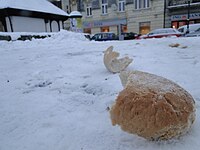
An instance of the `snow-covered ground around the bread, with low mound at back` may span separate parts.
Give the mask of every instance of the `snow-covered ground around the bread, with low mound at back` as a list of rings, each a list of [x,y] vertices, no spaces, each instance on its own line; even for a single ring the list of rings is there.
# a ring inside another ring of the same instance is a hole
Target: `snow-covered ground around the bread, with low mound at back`
[[[64,31],[44,40],[0,41],[0,150],[198,150],[199,41],[94,42]],[[111,45],[133,58],[128,70],[166,77],[194,97],[196,121],[187,135],[150,142],[111,125],[108,107],[123,89],[103,64]]]

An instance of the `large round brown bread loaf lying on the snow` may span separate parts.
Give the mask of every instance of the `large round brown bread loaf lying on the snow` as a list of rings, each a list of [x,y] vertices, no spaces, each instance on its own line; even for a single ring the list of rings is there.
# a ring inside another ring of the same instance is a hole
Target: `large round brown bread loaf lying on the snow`
[[[195,102],[186,90],[140,71],[122,72],[120,77],[125,88],[110,110],[113,125],[149,140],[171,139],[190,129]]]

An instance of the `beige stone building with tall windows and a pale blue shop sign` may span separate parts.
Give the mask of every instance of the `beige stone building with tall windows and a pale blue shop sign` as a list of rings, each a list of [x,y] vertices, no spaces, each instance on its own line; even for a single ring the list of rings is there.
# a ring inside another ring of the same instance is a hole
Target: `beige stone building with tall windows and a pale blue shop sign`
[[[80,6],[79,6],[80,5]],[[164,26],[164,0],[73,1],[83,15],[83,31],[145,34]]]

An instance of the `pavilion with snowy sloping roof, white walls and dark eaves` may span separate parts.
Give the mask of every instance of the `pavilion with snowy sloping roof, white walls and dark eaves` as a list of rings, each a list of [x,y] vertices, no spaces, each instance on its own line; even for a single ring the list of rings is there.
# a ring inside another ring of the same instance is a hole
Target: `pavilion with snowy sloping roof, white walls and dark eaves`
[[[0,32],[57,32],[68,18],[47,0],[0,0]]]

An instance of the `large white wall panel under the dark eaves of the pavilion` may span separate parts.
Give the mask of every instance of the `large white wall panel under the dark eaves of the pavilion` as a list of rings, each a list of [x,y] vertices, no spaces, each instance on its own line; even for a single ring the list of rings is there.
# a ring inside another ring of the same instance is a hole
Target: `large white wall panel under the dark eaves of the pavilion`
[[[11,21],[14,32],[45,32],[46,30],[44,19],[12,16]]]

